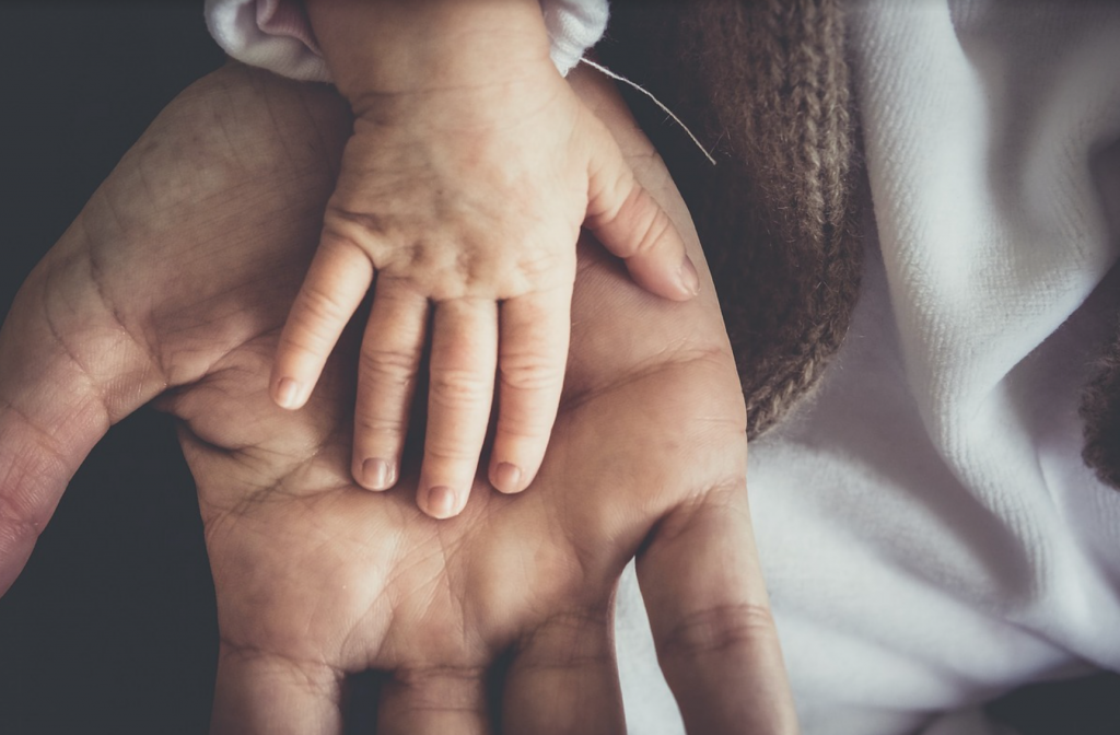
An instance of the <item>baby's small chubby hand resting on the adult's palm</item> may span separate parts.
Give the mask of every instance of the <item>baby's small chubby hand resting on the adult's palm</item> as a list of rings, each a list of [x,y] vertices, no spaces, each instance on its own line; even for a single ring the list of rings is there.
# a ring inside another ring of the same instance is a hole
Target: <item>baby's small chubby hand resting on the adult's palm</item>
[[[307,8],[355,122],[280,338],[273,398],[289,409],[307,401],[372,286],[354,477],[370,490],[396,482],[430,336],[417,501],[448,518],[477,472],[495,374],[491,483],[520,492],[543,460],[581,224],[654,294],[688,299],[699,280],[669,217],[550,62],[536,0]]]

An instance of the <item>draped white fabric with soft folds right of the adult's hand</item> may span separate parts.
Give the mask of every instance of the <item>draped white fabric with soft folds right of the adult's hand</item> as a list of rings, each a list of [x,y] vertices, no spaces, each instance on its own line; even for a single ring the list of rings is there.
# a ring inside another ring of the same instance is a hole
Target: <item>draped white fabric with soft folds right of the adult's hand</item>
[[[1120,492],[1079,416],[1120,313],[1120,6],[851,4],[860,301],[750,447],[755,533],[805,735],[995,735],[984,701],[1120,670]],[[619,597],[631,732],[678,735]]]

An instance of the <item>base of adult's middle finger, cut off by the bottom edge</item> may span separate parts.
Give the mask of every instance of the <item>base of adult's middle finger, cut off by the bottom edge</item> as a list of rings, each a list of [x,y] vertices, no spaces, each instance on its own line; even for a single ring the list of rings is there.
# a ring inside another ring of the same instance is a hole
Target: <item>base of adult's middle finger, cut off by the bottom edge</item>
[[[491,732],[483,669],[402,669],[382,685],[377,735]]]

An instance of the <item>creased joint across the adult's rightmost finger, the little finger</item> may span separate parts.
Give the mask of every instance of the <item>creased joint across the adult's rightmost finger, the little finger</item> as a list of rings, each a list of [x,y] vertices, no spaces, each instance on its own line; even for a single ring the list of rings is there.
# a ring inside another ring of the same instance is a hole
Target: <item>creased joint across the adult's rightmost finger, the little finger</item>
[[[709,607],[685,616],[662,642],[663,655],[696,658],[754,648],[775,635],[768,605],[737,603]]]

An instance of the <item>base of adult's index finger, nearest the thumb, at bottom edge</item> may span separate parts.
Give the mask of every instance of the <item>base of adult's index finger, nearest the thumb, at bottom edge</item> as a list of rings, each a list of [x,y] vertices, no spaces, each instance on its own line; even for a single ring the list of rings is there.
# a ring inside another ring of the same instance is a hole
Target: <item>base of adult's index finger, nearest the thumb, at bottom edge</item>
[[[343,732],[340,672],[223,642],[212,735],[337,735]]]

